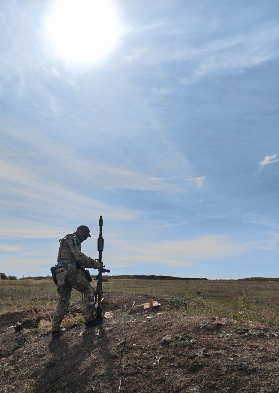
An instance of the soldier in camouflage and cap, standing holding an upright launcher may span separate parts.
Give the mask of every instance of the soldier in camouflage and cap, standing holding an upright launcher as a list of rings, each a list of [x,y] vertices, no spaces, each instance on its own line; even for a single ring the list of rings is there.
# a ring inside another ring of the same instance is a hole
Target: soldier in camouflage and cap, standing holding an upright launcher
[[[81,243],[87,237],[91,237],[89,228],[81,225],[76,232],[66,235],[59,240],[58,263],[55,268],[59,301],[52,319],[52,336],[54,337],[64,333],[60,328],[60,324],[70,305],[72,288],[78,290],[84,296],[83,316],[85,328],[95,325],[93,319],[95,291],[85,276],[85,269],[81,268],[80,265],[94,269],[99,269],[102,265],[81,252]]]

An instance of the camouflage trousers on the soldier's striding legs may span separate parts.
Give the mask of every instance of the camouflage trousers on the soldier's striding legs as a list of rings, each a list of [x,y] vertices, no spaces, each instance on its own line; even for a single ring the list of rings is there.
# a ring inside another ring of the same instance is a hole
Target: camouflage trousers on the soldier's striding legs
[[[57,288],[59,300],[52,318],[52,330],[59,329],[60,324],[70,305],[72,288],[78,290],[84,295],[83,299],[83,317],[85,322],[93,320],[94,296],[95,291],[85,277],[82,270],[68,272],[65,278],[65,284]]]

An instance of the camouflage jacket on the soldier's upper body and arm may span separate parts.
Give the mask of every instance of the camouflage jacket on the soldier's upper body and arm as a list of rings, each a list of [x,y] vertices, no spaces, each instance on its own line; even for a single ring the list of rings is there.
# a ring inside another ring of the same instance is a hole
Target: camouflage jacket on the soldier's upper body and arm
[[[70,235],[66,235],[59,242],[60,247],[57,257],[58,265],[59,261],[62,260],[63,263],[65,263],[65,260],[75,260],[78,261],[81,266],[84,266],[85,268],[100,268],[101,265],[98,261],[87,257],[87,255],[81,252],[81,243],[76,235],[72,233]]]

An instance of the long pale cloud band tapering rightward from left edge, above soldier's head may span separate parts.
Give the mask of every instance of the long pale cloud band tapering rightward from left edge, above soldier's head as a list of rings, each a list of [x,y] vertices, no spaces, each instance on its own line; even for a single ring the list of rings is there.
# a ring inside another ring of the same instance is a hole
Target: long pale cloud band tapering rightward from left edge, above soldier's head
[[[15,196],[21,206],[25,205],[33,214],[38,212],[37,219],[47,212],[53,217],[59,214],[59,211],[66,214],[67,210],[71,211],[72,217],[85,217],[88,215],[89,207],[91,214],[95,211],[94,214],[98,216],[98,213],[103,211],[107,217],[116,220],[135,219],[139,214],[133,209],[113,207],[96,198],[84,196],[74,187],[59,184],[14,163],[4,160],[0,163],[0,178],[4,181],[2,195],[6,193],[4,204],[13,206]]]

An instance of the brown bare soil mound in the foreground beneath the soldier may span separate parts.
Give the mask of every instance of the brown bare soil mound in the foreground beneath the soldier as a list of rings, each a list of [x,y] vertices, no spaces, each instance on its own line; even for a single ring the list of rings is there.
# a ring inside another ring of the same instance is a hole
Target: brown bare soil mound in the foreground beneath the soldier
[[[160,299],[156,310],[127,314],[148,296],[105,298],[113,318],[87,330],[75,326],[60,339],[49,328],[7,329],[23,312],[0,316],[0,392],[278,392],[279,339],[239,332],[267,332],[263,324],[181,315],[179,305]],[[218,338],[222,332],[230,335]]]

